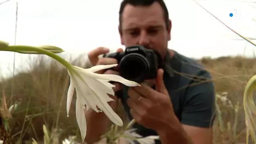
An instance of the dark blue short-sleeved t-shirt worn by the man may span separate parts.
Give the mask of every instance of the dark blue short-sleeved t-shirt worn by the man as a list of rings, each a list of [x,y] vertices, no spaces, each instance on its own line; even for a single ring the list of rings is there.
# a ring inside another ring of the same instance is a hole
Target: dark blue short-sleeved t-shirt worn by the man
[[[176,117],[185,125],[212,127],[215,117],[215,92],[210,73],[195,60],[173,52],[172,58],[168,53],[165,57],[163,80]],[[130,107],[126,103],[129,98],[127,91],[128,87],[123,85],[123,89],[116,94],[121,99],[129,120],[132,120]],[[154,130],[138,123],[135,123],[133,128],[137,128],[136,132],[144,137],[157,135]],[[161,142],[156,141],[156,144]]]

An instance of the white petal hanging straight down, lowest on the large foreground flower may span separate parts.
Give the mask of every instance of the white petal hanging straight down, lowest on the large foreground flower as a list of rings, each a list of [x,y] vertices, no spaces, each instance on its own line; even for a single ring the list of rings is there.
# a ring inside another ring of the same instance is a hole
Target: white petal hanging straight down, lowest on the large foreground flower
[[[76,112],[77,123],[80,129],[82,141],[84,141],[86,136],[86,131],[87,131],[87,125],[86,125],[85,113],[83,110],[83,104],[80,103],[79,99],[76,100],[75,112]]]

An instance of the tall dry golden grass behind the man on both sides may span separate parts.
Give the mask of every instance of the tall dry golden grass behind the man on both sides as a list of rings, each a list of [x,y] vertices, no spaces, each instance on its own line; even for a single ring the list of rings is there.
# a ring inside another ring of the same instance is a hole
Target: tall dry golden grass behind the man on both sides
[[[72,64],[83,67],[83,58]],[[228,92],[228,99],[233,107],[217,99],[218,108],[214,124],[214,141],[216,144],[239,144],[245,142],[245,121],[243,112],[243,91],[247,81],[256,75],[256,59],[243,57],[222,57],[219,59],[203,58],[199,60],[213,76],[216,93]],[[43,140],[43,124],[61,133],[61,139],[80,132],[75,119],[75,101],[72,103],[70,117],[66,116],[66,94],[69,85],[67,70],[55,60],[40,56],[30,61],[30,72],[23,72],[11,79],[0,82],[1,91],[7,99],[11,96],[12,82],[15,99],[22,98],[22,103],[14,112],[17,120],[12,130],[13,141]],[[13,81],[14,80],[14,81]],[[0,92],[1,93],[1,92]],[[15,99],[13,101],[15,101]],[[235,105],[239,102],[237,111]],[[10,103],[8,104],[10,105]],[[122,106],[118,114],[126,120]],[[126,125],[126,124],[125,124]]]

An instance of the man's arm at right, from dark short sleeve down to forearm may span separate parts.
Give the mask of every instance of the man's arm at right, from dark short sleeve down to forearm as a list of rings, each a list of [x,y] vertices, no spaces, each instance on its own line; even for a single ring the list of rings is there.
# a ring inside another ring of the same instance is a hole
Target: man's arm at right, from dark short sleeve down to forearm
[[[206,72],[200,77],[211,78]],[[214,101],[212,82],[193,83],[184,96],[181,123],[176,118],[176,123],[157,131],[162,144],[212,144]]]

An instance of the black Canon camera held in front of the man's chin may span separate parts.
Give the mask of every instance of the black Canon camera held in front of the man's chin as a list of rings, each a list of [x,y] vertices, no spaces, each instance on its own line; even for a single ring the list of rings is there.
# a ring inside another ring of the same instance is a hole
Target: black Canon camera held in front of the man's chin
[[[137,83],[156,78],[157,69],[163,64],[160,53],[142,45],[129,46],[122,53],[108,53],[103,57],[117,59],[120,76]]]

